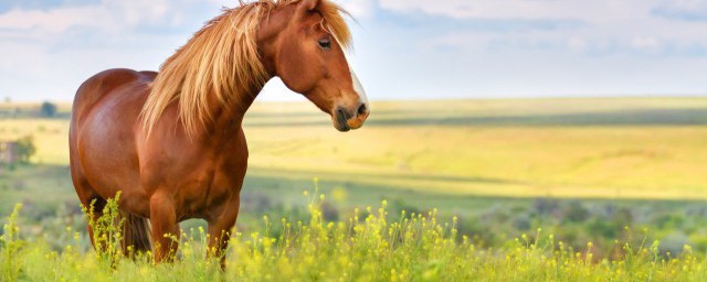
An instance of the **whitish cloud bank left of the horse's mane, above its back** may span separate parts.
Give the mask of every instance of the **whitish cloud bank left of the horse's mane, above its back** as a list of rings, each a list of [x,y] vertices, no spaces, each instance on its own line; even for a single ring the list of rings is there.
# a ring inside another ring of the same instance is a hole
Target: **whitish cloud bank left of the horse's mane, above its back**
[[[220,8],[214,0],[96,0],[8,10],[0,13],[0,54],[12,55],[0,59],[0,90],[67,100],[99,70],[157,69]]]

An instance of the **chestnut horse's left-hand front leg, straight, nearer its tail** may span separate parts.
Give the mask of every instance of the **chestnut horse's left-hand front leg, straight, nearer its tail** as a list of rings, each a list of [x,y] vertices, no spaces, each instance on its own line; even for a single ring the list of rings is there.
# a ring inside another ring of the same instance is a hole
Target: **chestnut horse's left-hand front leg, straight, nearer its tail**
[[[171,261],[179,247],[179,225],[170,196],[155,194],[150,198],[150,224],[155,246],[155,262]]]

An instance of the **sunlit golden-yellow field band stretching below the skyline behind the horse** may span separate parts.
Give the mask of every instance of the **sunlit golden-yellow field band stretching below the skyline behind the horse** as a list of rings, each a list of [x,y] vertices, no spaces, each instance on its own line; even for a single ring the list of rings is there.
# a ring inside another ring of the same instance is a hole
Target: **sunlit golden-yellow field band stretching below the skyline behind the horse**
[[[34,161],[60,167],[67,127],[66,118],[0,119],[2,139],[32,134]],[[704,98],[374,102],[349,133],[309,104],[256,104],[244,128],[246,191],[318,176],[349,189],[707,199]]]

